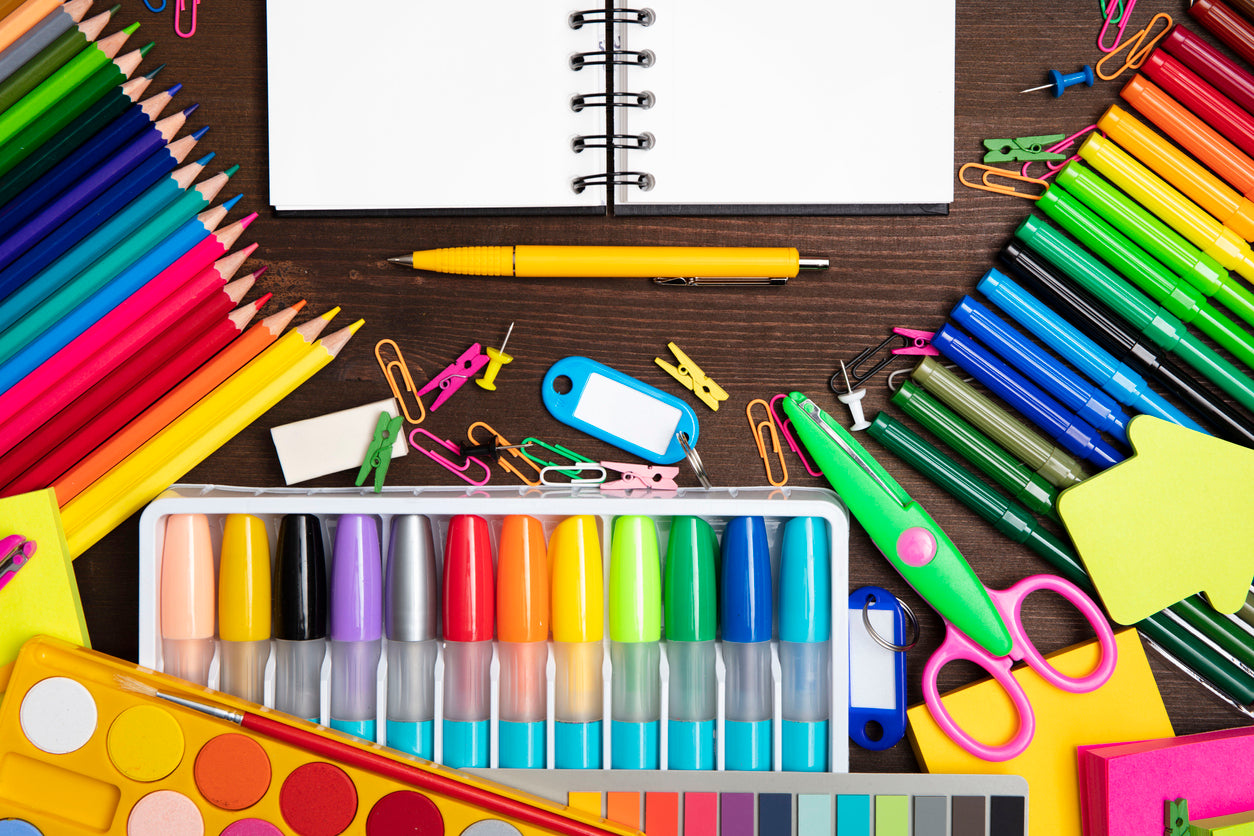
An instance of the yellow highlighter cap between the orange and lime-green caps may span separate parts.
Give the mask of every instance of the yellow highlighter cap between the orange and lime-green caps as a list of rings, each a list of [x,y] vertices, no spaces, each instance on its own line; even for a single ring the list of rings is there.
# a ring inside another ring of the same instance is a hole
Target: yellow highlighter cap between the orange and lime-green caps
[[[553,640],[599,642],[604,637],[601,543],[597,521],[568,516],[549,538],[553,574]]]

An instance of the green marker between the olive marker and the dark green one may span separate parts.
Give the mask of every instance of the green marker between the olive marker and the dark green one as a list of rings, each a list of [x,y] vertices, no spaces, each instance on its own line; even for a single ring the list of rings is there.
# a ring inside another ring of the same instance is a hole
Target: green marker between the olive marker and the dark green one
[[[924,392],[918,384],[909,380],[903,382],[893,395],[893,402],[1031,511],[1058,519],[1055,508],[1057,488],[1025,468],[987,435]]]

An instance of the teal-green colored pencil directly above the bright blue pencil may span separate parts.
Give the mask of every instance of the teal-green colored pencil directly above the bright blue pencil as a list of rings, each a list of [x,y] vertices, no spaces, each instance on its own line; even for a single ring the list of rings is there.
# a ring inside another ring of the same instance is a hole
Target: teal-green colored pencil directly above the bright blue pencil
[[[83,271],[61,290],[28,311],[13,326],[0,333],[0,366],[40,338],[58,322],[73,313],[79,306],[113,283],[120,274],[133,272],[152,251],[162,248],[176,232],[193,223],[198,212],[204,212],[212,197],[202,194],[202,188],[212,188],[213,193],[226,183],[226,173],[216,188],[211,178],[198,188],[188,189],[182,197],[162,209],[152,221],[137,229],[133,236],[109,251],[103,258]],[[194,243],[194,242],[193,242]],[[177,254],[176,254],[177,258]],[[173,258],[171,258],[173,261]],[[164,268],[164,266],[162,267]],[[158,271],[153,271],[155,274]],[[5,387],[0,386],[0,391]]]

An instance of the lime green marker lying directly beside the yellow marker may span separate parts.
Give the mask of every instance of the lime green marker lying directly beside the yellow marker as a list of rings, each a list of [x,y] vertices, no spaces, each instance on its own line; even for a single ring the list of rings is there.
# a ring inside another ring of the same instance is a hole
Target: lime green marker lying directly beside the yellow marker
[[[1078,160],[1067,163],[1055,183],[1139,243],[1162,264],[1245,322],[1254,325],[1254,293],[1211,256],[1145,211],[1136,201]]]

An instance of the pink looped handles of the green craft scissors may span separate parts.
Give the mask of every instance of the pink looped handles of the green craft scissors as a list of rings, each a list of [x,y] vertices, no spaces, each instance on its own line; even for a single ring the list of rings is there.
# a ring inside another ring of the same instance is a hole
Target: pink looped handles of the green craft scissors
[[[1020,620],[1023,599],[1031,593],[1042,589],[1056,592],[1071,602],[1088,620],[1097,634],[1101,658],[1092,671],[1081,677],[1068,677],[1053,668],[1023,630],[1023,623]],[[1009,656],[999,658],[991,656],[988,651],[947,623],[948,630],[944,642],[932,654],[932,658],[928,659],[927,666],[923,668],[923,699],[937,724],[954,743],[986,761],[1008,761],[1023,753],[1032,742],[1032,734],[1036,732],[1036,716],[1032,713],[1032,704],[1028,702],[1023,686],[1011,673],[1011,667],[1014,662],[1022,659],[1042,679],[1056,688],[1071,693],[1085,693],[1096,691],[1110,679],[1110,676],[1115,672],[1117,649],[1115,645],[1115,633],[1106,622],[1101,608],[1078,587],[1058,575],[1032,575],[1018,582],[1009,589],[989,589],[988,597],[993,600],[993,605],[1009,629],[1012,639]],[[956,659],[964,659],[987,671],[1001,684],[1006,696],[1009,697],[1011,703],[1014,706],[1014,712],[1018,714],[1018,731],[1006,743],[989,746],[976,739],[963,731],[946,709],[944,703],[940,701],[937,678],[940,668]]]

